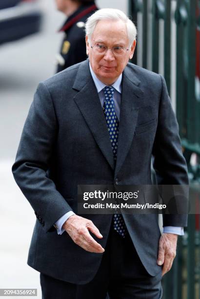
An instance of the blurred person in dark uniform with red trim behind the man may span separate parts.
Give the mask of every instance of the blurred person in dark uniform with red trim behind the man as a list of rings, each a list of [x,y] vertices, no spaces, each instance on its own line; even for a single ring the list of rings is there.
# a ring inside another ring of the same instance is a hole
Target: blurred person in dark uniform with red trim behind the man
[[[98,8],[93,0],[56,0],[59,11],[67,16],[60,29],[65,33],[56,56],[57,72],[87,59],[85,49],[85,22]]]

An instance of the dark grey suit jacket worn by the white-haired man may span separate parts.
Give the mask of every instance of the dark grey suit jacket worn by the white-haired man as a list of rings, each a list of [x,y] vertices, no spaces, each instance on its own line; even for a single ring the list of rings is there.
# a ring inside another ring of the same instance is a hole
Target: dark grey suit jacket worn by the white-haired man
[[[134,64],[122,76],[118,157],[115,166],[105,117],[89,62],[73,65],[40,83],[30,107],[12,171],[37,216],[28,264],[64,281],[83,284],[96,274],[102,254],[89,253],[54,223],[77,213],[77,185],[152,184],[151,157],[159,184],[188,184],[179,129],[164,79]],[[82,215],[103,235],[112,215]],[[140,259],[151,276],[157,265],[157,214],[125,214]],[[164,215],[164,226],[186,226],[186,215]]]

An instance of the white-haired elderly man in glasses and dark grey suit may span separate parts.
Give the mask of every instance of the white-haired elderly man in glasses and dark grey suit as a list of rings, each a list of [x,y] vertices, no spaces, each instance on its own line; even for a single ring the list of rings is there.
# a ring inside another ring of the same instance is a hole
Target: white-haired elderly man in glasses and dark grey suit
[[[156,214],[77,213],[79,184],[152,184],[152,156],[159,184],[188,184],[165,81],[128,63],[136,33],[120,10],[94,13],[89,60],[40,83],[25,122],[13,174],[37,217],[43,299],[162,296],[185,215],[164,215],[160,235]]]

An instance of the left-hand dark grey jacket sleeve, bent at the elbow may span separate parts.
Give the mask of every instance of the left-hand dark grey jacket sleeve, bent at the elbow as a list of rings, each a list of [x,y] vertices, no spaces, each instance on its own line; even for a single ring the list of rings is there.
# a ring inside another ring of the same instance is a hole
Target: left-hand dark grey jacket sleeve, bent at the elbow
[[[55,222],[72,210],[47,175],[57,132],[51,95],[45,83],[40,83],[24,124],[12,171],[45,232],[55,230]]]

